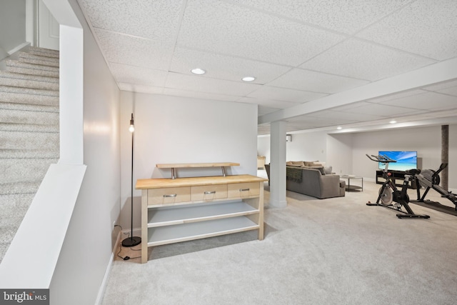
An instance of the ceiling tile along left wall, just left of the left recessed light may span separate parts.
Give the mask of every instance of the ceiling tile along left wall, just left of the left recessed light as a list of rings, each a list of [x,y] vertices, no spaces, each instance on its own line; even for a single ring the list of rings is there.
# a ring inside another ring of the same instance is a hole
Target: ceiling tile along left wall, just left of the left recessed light
[[[168,72],[129,66],[125,64],[110,64],[111,72],[119,83],[141,84],[146,86],[164,86]]]

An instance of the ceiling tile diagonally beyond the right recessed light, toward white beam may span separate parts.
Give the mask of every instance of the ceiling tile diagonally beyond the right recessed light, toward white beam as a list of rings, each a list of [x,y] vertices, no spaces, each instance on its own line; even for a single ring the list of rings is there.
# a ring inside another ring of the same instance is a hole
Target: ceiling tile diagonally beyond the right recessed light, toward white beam
[[[296,103],[304,103],[326,94],[318,94],[309,91],[301,91],[294,89],[278,88],[273,86],[261,86],[256,91],[248,94],[248,97],[256,97],[258,99],[274,99],[278,101],[293,101]]]

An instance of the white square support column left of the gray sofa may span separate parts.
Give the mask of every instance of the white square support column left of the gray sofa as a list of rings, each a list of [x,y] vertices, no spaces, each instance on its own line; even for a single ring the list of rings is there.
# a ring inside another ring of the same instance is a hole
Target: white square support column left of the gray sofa
[[[270,125],[270,206],[284,208],[286,201],[286,122]]]

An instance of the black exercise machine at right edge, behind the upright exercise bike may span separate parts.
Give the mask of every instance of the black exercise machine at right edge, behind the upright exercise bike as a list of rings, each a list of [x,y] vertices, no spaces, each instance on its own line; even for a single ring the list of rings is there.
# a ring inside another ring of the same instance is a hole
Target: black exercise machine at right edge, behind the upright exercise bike
[[[446,169],[446,166],[448,166],[447,163],[442,163],[440,165],[440,168],[437,169],[436,171],[433,171],[433,169],[424,169],[420,173],[414,175],[414,178],[416,179],[416,186],[417,186],[417,200],[411,200],[411,202],[423,202],[426,204],[434,203],[434,204],[439,204],[439,202],[436,201],[430,201],[430,200],[425,200],[426,195],[430,189],[434,189],[435,191],[438,191],[439,194],[441,194],[442,197],[449,199],[453,204],[456,205],[455,210],[457,211],[457,196],[456,194],[452,194],[451,191],[447,191],[446,189],[443,189],[439,184],[440,184],[440,172],[443,169]],[[423,195],[421,196],[421,186],[424,186],[426,190],[423,192]]]

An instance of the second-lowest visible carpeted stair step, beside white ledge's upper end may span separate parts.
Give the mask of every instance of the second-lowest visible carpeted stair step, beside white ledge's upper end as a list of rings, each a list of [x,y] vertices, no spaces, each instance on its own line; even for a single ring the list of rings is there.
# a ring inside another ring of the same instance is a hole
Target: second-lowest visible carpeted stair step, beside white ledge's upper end
[[[51,164],[58,159],[2,159],[0,162],[0,184],[41,181]]]

